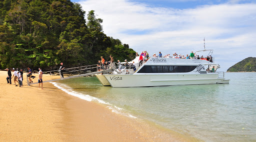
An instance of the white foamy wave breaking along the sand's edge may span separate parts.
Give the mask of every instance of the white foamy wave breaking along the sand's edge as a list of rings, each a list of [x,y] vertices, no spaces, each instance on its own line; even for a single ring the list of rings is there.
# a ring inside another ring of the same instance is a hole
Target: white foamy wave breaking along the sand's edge
[[[121,114],[121,115],[123,115],[123,116],[136,119],[136,117],[134,117],[134,116],[132,116],[132,115],[130,115],[130,114],[121,112],[121,111],[123,110],[122,108],[116,107],[116,106],[114,106],[114,105],[112,105],[112,104],[110,104],[110,103],[108,103],[108,102],[105,102],[105,101],[103,101],[103,100],[100,100],[100,99],[98,99],[98,98],[96,98],[96,97],[92,97],[92,96],[90,96],[90,95],[84,95],[84,94],[75,92],[75,91],[73,91],[72,89],[65,89],[65,88],[68,88],[68,86],[65,85],[65,84],[60,84],[60,83],[56,83],[56,82],[50,82],[50,83],[53,84],[53,85],[54,85],[55,87],[57,87],[58,89],[64,91],[64,92],[67,93],[67,94],[69,94],[69,95],[78,97],[78,98],[80,98],[80,99],[82,99],[82,100],[85,100],[85,101],[89,101],[89,102],[95,101],[95,102],[98,102],[98,103],[100,103],[100,104],[105,104],[105,105],[107,105],[107,108],[110,109],[113,113]],[[63,87],[61,87],[61,86],[65,87],[65,88],[63,88]]]

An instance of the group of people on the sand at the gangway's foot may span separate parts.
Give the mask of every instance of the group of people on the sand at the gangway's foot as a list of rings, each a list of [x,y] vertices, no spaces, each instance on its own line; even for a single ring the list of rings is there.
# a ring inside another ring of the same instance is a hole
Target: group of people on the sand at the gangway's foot
[[[6,77],[6,80],[7,80],[7,83],[8,84],[11,84],[11,79],[13,79],[14,81],[14,85],[15,86],[18,86],[19,87],[22,87],[23,85],[23,69],[20,69],[18,71],[18,68],[15,70],[14,68],[12,68],[12,71],[13,71],[13,75],[11,77],[11,71],[9,70],[9,68],[6,68],[7,70],[7,77]],[[28,80],[29,80],[29,83],[33,83],[33,81],[31,80],[31,78],[35,78],[34,76],[32,76],[32,70],[27,67],[27,77],[28,77]],[[16,84],[17,82],[17,84]],[[42,88],[42,71],[40,68],[38,68],[38,89],[40,89],[40,85],[41,85],[41,89]]]

